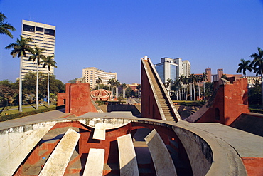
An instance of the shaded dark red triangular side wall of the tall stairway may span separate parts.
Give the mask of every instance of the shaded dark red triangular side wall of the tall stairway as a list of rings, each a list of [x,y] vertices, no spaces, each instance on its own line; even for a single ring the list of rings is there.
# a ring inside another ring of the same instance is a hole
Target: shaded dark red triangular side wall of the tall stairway
[[[154,99],[154,93],[151,90],[149,79],[142,62],[147,63],[148,60],[141,60],[141,117],[161,120],[161,115],[156,100]]]

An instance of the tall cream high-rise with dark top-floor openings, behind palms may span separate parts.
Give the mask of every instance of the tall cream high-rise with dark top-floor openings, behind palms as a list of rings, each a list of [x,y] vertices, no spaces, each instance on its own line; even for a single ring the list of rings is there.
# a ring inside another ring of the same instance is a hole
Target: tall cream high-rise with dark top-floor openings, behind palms
[[[45,56],[51,56],[55,54],[55,26],[48,24],[36,23],[33,21],[22,21],[22,36],[23,38],[31,38],[31,42],[28,44],[34,48],[45,48],[43,54]],[[22,61],[22,78],[29,71],[36,72],[37,62],[28,61],[30,53],[26,53],[26,57],[23,57]],[[42,68],[43,64],[38,66],[38,71],[48,73],[48,68]],[[54,73],[54,68],[50,68],[50,74]]]

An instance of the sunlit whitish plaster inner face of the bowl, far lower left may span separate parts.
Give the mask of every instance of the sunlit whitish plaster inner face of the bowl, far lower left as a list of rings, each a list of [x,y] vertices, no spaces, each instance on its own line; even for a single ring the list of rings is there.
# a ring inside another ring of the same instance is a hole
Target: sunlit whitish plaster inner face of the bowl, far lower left
[[[36,146],[36,144],[43,138],[43,136],[48,133],[48,130],[52,128],[53,125],[46,125],[43,128],[37,128],[33,130],[28,130],[26,133],[12,133],[13,128],[10,128],[10,133],[1,135],[1,143],[4,143],[7,148],[10,148],[10,145],[17,143],[15,148],[6,150],[4,155],[1,155],[0,160],[0,175],[13,175],[18,166],[23,162],[29,152]],[[19,130],[18,130],[19,131]],[[4,137],[5,139],[3,139]],[[21,139],[19,139],[21,138]],[[9,144],[10,142],[10,144]],[[1,147],[3,148],[3,147]],[[2,150],[1,150],[2,152]]]

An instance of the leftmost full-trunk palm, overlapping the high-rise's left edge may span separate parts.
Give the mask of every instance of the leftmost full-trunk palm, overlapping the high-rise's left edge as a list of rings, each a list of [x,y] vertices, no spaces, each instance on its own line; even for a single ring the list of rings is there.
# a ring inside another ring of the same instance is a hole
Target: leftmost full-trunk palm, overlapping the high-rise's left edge
[[[22,112],[22,61],[23,56],[26,56],[26,51],[30,52],[32,50],[31,46],[28,45],[28,42],[31,41],[31,38],[23,38],[20,36],[20,39],[16,39],[16,43],[11,43],[9,46],[6,46],[6,49],[13,48],[11,55],[13,58],[16,56],[20,58],[20,73],[19,73],[19,112]]]

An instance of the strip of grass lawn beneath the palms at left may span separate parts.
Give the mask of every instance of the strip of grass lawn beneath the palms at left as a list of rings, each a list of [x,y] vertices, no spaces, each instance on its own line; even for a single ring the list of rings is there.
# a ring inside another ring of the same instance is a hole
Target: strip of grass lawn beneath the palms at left
[[[55,107],[56,105],[53,105],[52,103],[50,103],[50,108]],[[44,105],[38,105],[38,109],[45,109],[48,108],[48,104],[44,104]],[[8,109],[8,110],[6,110]],[[29,112],[32,110],[36,110],[36,104],[31,104],[31,105],[22,105],[22,110],[23,112]],[[19,113],[18,110],[18,105],[16,106],[8,106],[8,108],[6,107],[1,107],[0,108],[0,115],[9,115],[9,114],[16,114]]]

